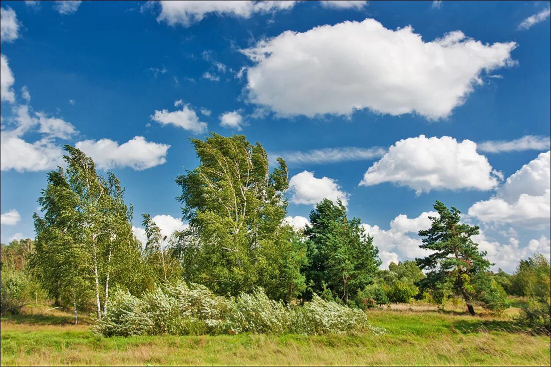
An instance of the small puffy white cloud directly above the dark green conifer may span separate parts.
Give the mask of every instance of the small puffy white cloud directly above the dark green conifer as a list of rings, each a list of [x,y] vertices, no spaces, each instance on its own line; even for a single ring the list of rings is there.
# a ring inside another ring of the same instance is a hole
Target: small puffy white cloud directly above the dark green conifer
[[[324,198],[334,203],[341,199],[344,206],[348,205],[348,193],[341,190],[336,180],[329,177],[317,179],[314,172],[303,171],[289,180],[291,202],[295,204],[316,204]]]

